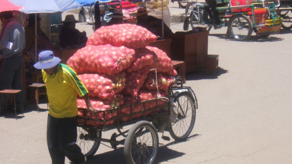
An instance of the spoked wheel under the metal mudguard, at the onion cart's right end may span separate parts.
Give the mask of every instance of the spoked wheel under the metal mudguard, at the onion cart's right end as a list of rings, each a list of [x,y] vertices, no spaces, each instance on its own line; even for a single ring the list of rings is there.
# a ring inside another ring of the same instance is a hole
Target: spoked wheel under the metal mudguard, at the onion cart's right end
[[[169,134],[176,141],[186,140],[191,134],[196,120],[196,102],[189,92],[181,92],[173,101],[176,105],[178,118],[171,124]]]

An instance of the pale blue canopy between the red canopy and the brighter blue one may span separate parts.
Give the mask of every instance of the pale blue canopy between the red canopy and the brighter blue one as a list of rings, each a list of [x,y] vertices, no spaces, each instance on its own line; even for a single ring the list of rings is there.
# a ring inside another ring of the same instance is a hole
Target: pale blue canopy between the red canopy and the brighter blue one
[[[23,13],[55,13],[81,8],[75,0],[9,0],[13,4],[23,6]]]

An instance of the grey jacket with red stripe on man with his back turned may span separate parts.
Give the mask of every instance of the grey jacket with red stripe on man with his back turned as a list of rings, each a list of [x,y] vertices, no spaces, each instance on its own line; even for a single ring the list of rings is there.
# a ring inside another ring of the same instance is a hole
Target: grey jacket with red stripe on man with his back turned
[[[11,50],[6,48],[8,42],[13,43]],[[0,32],[1,58],[5,59],[13,55],[21,55],[25,47],[24,29],[14,18],[2,24]]]

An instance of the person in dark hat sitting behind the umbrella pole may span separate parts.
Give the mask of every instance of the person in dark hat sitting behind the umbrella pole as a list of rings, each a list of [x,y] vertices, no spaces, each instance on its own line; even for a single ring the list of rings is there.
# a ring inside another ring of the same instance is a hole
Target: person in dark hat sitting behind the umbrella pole
[[[41,30],[41,18],[36,14],[36,24],[35,24],[35,14],[29,14],[28,25],[25,27],[25,48],[23,49],[23,54],[27,55],[34,63],[38,59],[39,52],[43,50],[59,50],[60,47],[53,44],[50,39],[46,36],[46,33]],[[36,29],[35,29],[36,27]],[[36,30],[36,49],[35,52],[35,30]],[[36,53],[36,54],[35,54]]]

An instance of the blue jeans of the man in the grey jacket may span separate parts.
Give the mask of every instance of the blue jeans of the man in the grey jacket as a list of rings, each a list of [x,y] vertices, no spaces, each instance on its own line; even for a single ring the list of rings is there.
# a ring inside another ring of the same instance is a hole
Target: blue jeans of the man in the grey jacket
[[[14,55],[5,59],[2,59],[1,68],[0,68],[0,90],[4,89],[19,89],[21,103],[19,96],[16,95],[16,103],[18,105],[23,104],[24,102],[24,91],[22,85],[22,66],[23,66],[23,56]],[[1,98],[1,94],[0,94]],[[5,107],[8,101],[8,95],[3,95],[2,98],[2,107]]]

